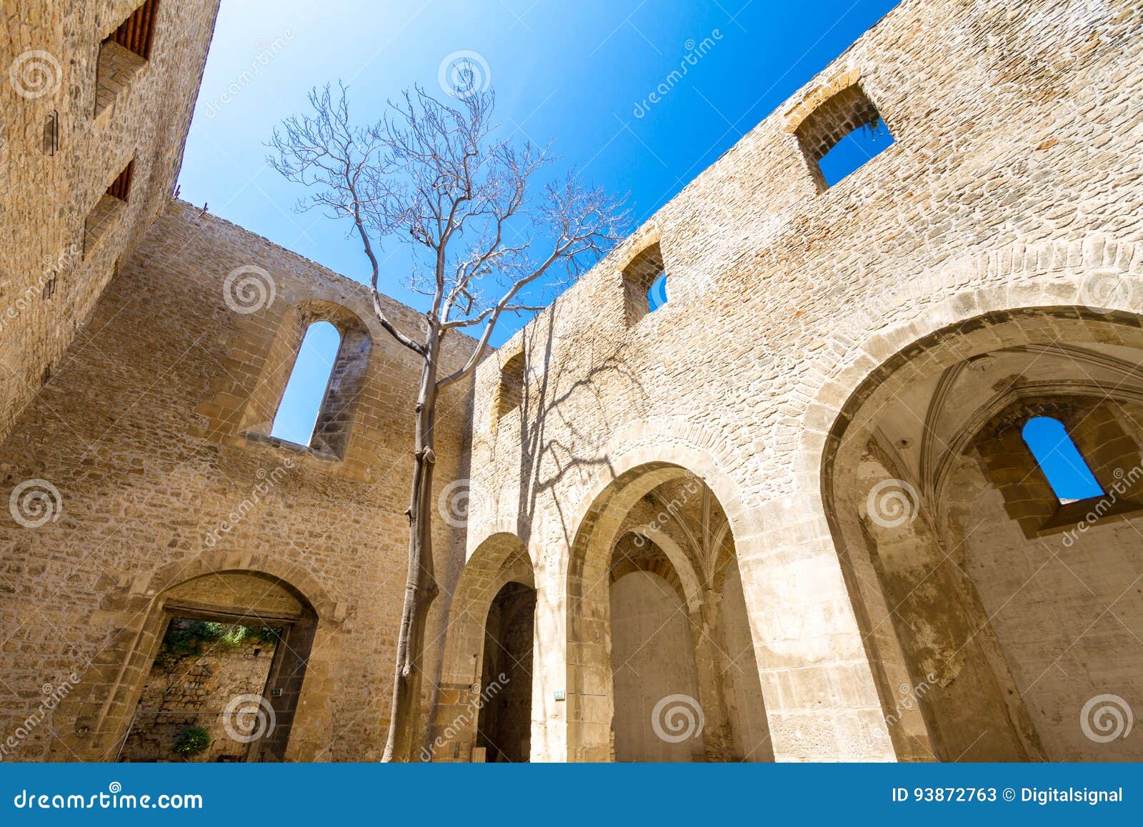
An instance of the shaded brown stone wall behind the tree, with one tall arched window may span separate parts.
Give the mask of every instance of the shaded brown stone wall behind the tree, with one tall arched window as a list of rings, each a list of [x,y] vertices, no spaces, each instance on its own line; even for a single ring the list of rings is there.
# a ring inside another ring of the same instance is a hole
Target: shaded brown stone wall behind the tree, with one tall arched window
[[[238,303],[258,294],[235,293],[234,271],[261,279],[261,301]],[[418,329],[415,311],[384,301],[394,324]],[[293,355],[273,347],[298,308],[352,317],[370,344],[359,392],[341,408],[342,455],[247,430],[242,419],[267,377],[288,374]],[[463,364],[472,347],[459,335],[446,341],[446,367]],[[150,667],[139,652],[158,645],[159,613],[179,583],[205,583],[179,593],[203,612],[282,615],[202,579],[245,572],[315,615],[303,630],[312,649],[286,757],[379,757],[407,567],[418,379],[413,355],[374,320],[367,287],[171,202],[0,446],[6,502],[29,479],[57,492],[41,525],[17,524],[7,509],[0,520],[0,732],[34,713],[42,685],[78,675],[67,703],[14,754],[107,758],[121,734],[112,723],[129,717]],[[470,392],[457,383],[438,406],[438,488],[467,476]],[[441,520],[433,541],[439,623],[463,534]],[[429,641],[427,668],[439,669],[439,626]]]

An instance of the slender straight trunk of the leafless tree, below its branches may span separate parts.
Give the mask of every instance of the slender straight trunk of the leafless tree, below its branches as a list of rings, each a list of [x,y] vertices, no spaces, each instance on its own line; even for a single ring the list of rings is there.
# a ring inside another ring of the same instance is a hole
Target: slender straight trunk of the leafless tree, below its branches
[[[432,474],[437,462],[433,426],[437,415],[437,348],[430,333],[416,405],[413,491],[409,495],[409,570],[397,638],[397,670],[389,738],[382,761],[413,760],[421,718],[421,660],[429,606],[437,596],[432,562]]]

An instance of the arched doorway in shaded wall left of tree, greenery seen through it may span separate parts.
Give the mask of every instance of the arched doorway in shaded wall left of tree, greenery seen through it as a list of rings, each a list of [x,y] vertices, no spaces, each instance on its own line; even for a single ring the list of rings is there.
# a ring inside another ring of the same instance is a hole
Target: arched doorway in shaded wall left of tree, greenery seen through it
[[[86,745],[83,753],[70,749],[73,760],[179,760],[170,747],[186,727],[206,732],[209,746],[194,753],[199,761],[286,760],[318,611],[281,578],[210,571],[209,559],[157,573],[152,582],[176,582],[145,602],[118,597],[125,626],[66,701],[74,705],[75,729]],[[328,601],[319,605],[329,609]],[[201,629],[190,630],[183,637],[203,645],[170,650],[173,633],[187,631],[186,625],[217,627],[221,634],[203,641]],[[222,651],[218,638],[232,638],[239,628],[255,634],[241,636],[237,654],[249,662],[235,667],[226,657],[235,652]],[[171,663],[165,655],[173,652],[187,657]]]

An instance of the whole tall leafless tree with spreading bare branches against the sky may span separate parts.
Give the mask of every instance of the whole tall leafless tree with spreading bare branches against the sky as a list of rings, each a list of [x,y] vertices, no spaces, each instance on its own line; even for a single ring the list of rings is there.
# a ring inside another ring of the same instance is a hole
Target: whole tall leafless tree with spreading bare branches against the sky
[[[469,78],[471,80],[471,67]],[[421,711],[421,660],[433,575],[432,476],[437,398],[469,375],[505,313],[534,311],[541,288],[576,278],[621,237],[622,201],[568,174],[538,192],[547,148],[499,137],[494,95],[472,88],[443,103],[423,88],[390,102],[371,126],[350,119],[346,88],[310,93],[311,114],[274,130],[267,160],[287,178],[314,190],[298,208],[349,220],[371,268],[374,311],[381,326],[421,357],[413,405],[415,444],[409,494],[409,559],[397,639],[392,713],[383,761],[409,761]],[[398,329],[378,293],[385,240],[413,247],[407,286],[429,297],[419,332]],[[463,366],[442,375],[441,343],[454,331],[477,328]]]

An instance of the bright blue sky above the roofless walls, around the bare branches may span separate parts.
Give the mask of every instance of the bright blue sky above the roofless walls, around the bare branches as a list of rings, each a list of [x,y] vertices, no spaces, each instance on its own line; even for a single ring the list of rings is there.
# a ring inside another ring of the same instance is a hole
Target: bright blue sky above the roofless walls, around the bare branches
[[[363,280],[360,244],[344,224],[293,210],[304,190],[265,164],[264,142],[283,118],[306,110],[313,86],[342,79],[357,117],[371,122],[413,84],[439,92],[442,59],[471,50],[487,64],[504,128],[552,142],[561,156],[553,174],[574,165],[609,192],[629,193],[637,226],[894,5],[223,0],[181,194]],[[680,65],[686,75],[653,102]],[[405,249],[386,254],[382,289],[425,307],[400,286]],[[504,319],[493,343],[525,321]],[[303,366],[302,374],[320,396],[328,366]],[[291,432],[312,427],[312,413],[296,419]]]

